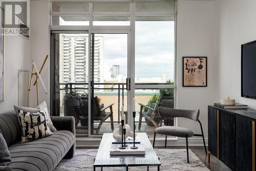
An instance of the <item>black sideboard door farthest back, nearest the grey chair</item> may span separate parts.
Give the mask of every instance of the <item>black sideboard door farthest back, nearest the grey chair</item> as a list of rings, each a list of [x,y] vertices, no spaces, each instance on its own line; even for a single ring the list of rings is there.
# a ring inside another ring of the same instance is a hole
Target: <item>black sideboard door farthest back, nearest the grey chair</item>
[[[216,108],[208,106],[208,149],[216,157],[218,157],[217,111]]]

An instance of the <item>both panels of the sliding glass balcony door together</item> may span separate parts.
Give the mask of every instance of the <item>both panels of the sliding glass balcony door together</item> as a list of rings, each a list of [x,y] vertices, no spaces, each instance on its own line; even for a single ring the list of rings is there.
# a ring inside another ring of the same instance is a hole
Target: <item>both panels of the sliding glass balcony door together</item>
[[[52,31],[51,39],[52,115],[73,116],[77,136],[113,132],[122,106],[127,114],[129,32]]]

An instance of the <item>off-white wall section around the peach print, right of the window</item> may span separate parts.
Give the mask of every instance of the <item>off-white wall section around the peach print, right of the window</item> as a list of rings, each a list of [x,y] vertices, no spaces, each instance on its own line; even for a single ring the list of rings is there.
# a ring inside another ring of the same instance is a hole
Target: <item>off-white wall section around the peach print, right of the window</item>
[[[178,1],[177,108],[200,109],[199,120],[206,138],[207,105],[213,104],[217,97],[215,66],[218,58],[214,55],[214,21],[214,1]],[[207,87],[182,87],[183,56],[207,56]],[[178,126],[191,128],[196,134],[201,133],[199,124],[188,119],[179,118]]]

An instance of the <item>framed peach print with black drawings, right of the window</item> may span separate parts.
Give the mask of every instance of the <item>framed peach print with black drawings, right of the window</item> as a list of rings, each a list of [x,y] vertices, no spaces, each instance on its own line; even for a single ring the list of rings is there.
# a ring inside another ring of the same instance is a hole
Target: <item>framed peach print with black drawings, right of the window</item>
[[[183,87],[207,87],[207,57],[183,57]]]

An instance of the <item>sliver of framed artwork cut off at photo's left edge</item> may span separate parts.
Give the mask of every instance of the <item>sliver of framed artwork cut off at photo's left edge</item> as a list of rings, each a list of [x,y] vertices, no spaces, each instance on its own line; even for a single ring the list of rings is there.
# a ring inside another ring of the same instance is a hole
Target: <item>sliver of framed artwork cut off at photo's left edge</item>
[[[4,29],[5,21],[4,21],[4,9],[0,7],[0,30]],[[5,36],[4,33],[0,33],[0,101],[4,101],[4,43]]]

